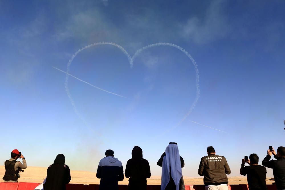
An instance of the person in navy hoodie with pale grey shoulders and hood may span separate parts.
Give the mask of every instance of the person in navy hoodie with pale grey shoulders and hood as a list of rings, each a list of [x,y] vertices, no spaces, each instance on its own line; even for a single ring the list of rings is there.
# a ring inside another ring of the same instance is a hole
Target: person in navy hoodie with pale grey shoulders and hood
[[[100,160],[96,177],[101,179],[99,190],[118,190],[118,181],[123,181],[124,171],[121,161],[114,157],[114,151],[107,150]]]

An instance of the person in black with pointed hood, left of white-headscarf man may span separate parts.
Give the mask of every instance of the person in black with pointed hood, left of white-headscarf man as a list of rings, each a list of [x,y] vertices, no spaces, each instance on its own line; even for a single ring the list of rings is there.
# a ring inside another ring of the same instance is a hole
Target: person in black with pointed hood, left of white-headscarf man
[[[132,158],[128,160],[125,176],[129,179],[129,190],[146,190],[146,178],[150,178],[150,167],[146,159],[143,159],[143,150],[135,146]]]

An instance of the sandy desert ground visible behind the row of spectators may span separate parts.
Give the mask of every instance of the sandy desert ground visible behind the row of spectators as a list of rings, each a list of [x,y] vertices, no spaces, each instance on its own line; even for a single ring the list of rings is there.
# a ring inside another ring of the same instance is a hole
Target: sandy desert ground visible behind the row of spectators
[[[0,166],[0,176],[3,177],[5,173],[4,166]],[[24,173],[20,173],[21,178],[19,178],[19,182],[36,182],[42,183],[44,178],[46,177],[46,168],[44,167],[32,167],[29,166],[25,169]],[[79,184],[99,184],[100,179],[96,178],[95,172],[88,171],[71,171],[72,180],[70,183],[79,183]],[[203,185],[203,177],[186,177],[184,176],[185,185]],[[147,179],[147,184],[149,185],[160,185],[160,176],[152,176],[150,179]],[[2,181],[0,181],[2,182]],[[266,183],[272,184],[271,178],[266,178]],[[125,178],[123,181],[119,181],[119,184],[128,184],[128,179]],[[229,185],[237,185],[237,184],[247,184],[246,177],[229,177]]]

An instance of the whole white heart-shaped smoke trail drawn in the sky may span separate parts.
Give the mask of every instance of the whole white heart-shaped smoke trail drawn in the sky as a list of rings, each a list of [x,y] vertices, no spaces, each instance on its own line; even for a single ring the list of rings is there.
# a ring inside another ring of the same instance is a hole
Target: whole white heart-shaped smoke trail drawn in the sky
[[[170,128],[168,131],[170,131],[170,130],[176,128],[176,127],[178,127],[178,126],[192,113],[192,110],[193,110],[194,107],[196,106],[196,103],[197,103],[197,101],[198,101],[198,99],[199,99],[199,97],[200,97],[199,70],[198,70],[198,65],[197,65],[196,61],[192,58],[192,56],[191,56],[186,50],[184,50],[184,49],[183,49],[182,47],[180,47],[179,45],[176,45],[176,44],[173,44],[173,43],[155,43],[155,44],[147,45],[147,46],[145,46],[145,47],[143,47],[143,48],[137,50],[137,51],[135,52],[135,54],[133,55],[133,57],[131,57],[131,56],[129,55],[129,53],[128,53],[122,46],[120,46],[120,45],[118,45],[118,44],[116,44],[116,43],[112,43],[112,42],[98,42],[98,43],[93,43],[93,44],[87,45],[87,46],[85,46],[85,47],[82,47],[81,49],[79,49],[78,51],[76,51],[76,52],[72,55],[71,59],[68,61],[68,64],[67,64],[67,71],[65,72],[65,73],[66,73],[66,79],[65,79],[64,85],[65,85],[66,93],[67,93],[67,95],[68,95],[68,98],[70,99],[70,102],[71,102],[71,104],[72,104],[72,106],[73,106],[73,109],[74,109],[75,113],[76,113],[81,119],[82,119],[82,116],[81,116],[81,115],[79,114],[79,112],[77,111],[76,106],[75,106],[75,104],[74,104],[74,101],[73,101],[73,99],[72,99],[72,96],[71,96],[71,94],[70,94],[70,92],[69,92],[69,89],[68,89],[68,78],[69,78],[69,76],[70,76],[70,74],[69,74],[70,65],[71,65],[73,59],[76,57],[76,55],[77,55],[78,53],[80,53],[80,52],[81,52],[82,50],[84,50],[84,49],[87,49],[87,48],[89,48],[89,47],[93,47],[93,46],[96,46],[96,45],[113,45],[113,46],[115,46],[115,47],[118,47],[118,48],[127,56],[131,68],[133,67],[133,62],[134,62],[135,58],[136,58],[141,52],[143,52],[144,50],[146,50],[146,49],[148,49],[148,48],[155,47],[155,46],[171,46],[171,47],[175,47],[176,49],[179,49],[180,51],[182,51],[182,52],[192,61],[193,65],[194,65],[194,67],[195,67],[195,70],[196,70],[196,98],[195,98],[195,100],[193,101],[193,103],[192,103],[192,105],[191,105],[189,111],[184,115],[184,117],[177,123],[177,125],[175,125],[174,127]],[[85,81],[84,81],[84,82],[85,82]],[[108,92],[108,91],[107,91],[107,92]],[[116,95],[117,95],[117,94],[116,94]],[[83,121],[84,121],[84,120],[83,120]],[[86,122],[84,121],[84,123],[86,123]],[[166,131],[166,132],[168,132],[168,131]],[[166,133],[166,132],[165,132],[165,133]]]

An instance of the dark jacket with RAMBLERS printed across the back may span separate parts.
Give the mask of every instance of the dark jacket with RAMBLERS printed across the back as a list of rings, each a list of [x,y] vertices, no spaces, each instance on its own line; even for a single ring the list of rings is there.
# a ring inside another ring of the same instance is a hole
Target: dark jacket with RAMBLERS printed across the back
[[[226,174],[230,173],[231,169],[225,157],[211,154],[201,158],[198,174],[204,176],[205,186],[228,184]]]

